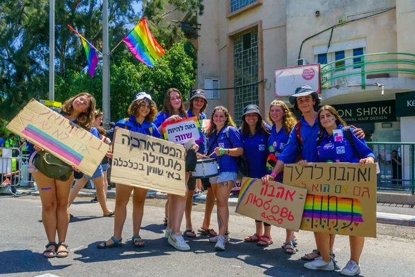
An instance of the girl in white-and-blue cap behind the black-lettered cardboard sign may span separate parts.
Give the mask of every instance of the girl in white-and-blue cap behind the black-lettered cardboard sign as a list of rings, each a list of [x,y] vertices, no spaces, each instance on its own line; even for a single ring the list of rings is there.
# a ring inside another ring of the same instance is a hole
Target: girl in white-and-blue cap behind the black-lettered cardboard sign
[[[156,118],[156,103],[151,100],[151,96],[145,92],[140,92],[136,100],[131,102],[128,108],[129,118],[122,119],[116,124],[116,129],[129,129],[131,132],[147,134],[160,139],[160,133],[153,120]],[[144,204],[147,197],[147,189],[123,184],[116,185],[116,215],[114,217],[114,233],[106,242],[98,245],[98,248],[113,248],[122,246],[122,227],[127,217],[127,204],[133,192],[133,245],[143,247],[144,240],[140,237],[142,215],[144,214]]]

